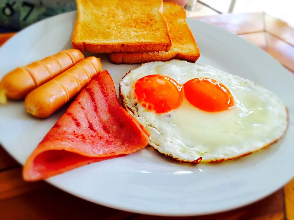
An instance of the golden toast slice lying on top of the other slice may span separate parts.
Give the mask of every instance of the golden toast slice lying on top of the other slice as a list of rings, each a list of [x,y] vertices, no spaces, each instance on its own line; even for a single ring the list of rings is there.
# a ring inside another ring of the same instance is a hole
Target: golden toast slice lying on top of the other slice
[[[91,53],[168,51],[162,0],[76,0],[73,48]]]

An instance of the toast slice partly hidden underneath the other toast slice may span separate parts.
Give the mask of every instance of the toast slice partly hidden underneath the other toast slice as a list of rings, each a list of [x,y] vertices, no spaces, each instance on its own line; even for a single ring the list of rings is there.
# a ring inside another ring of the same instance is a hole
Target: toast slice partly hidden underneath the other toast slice
[[[172,46],[168,52],[155,53],[110,53],[115,64],[135,64],[152,61],[167,61],[174,58],[196,62],[200,57],[194,36],[186,23],[186,12],[175,3],[164,3],[163,14],[168,22]]]

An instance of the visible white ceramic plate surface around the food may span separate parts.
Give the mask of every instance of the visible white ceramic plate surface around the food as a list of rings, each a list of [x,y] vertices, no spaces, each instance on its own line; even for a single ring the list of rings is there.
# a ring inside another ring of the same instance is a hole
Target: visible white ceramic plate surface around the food
[[[0,78],[20,65],[71,48],[76,12],[36,23],[0,48]],[[77,168],[48,179],[52,185],[108,207],[154,215],[201,215],[226,211],[273,193],[294,176],[294,78],[270,55],[220,28],[187,22],[201,51],[199,63],[250,79],[273,91],[289,108],[290,126],[278,144],[224,163],[191,166],[146,148],[132,155]],[[89,55],[89,54],[88,54]],[[102,60],[116,88],[138,65]],[[65,108],[47,119],[25,112],[23,102],[0,106],[0,142],[24,163]]]

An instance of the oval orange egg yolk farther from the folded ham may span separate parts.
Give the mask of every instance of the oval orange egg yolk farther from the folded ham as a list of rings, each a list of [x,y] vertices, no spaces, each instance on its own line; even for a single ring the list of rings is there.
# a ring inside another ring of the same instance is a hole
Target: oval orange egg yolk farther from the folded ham
[[[228,88],[214,79],[191,79],[184,84],[183,89],[187,100],[206,112],[220,112],[234,105],[233,96]]]

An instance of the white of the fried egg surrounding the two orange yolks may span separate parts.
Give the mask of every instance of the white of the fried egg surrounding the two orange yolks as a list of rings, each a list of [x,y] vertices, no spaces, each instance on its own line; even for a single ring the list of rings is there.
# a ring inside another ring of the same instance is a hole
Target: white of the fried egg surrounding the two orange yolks
[[[134,83],[153,74],[166,75],[180,84],[198,77],[215,79],[231,91],[235,105],[226,111],[205,112],[184,97],[179,108],[157,114],[134,98]],[[182,162],[244,156],[277,141],[288,127],[287,108],[279,97],[250,80],[205,64],[181,60],[142,64],[122,79],[120,96],[127,111],[150,132],[150,145]]]

